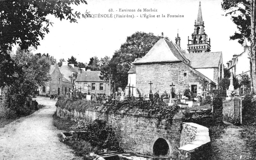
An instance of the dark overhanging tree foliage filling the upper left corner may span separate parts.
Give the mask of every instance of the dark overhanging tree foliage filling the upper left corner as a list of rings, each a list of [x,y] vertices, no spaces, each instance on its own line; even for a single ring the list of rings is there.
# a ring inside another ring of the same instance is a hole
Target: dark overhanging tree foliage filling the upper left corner
[[[81,15],[88,17],[88,12],[81,14],[71,8],[81,3],[87,4],[85,0],[0,1],[0,87],[12,84],[14,76],[21,72],[7,50],[12,50],[14,44],[18,44],[21,50],[30,46],[37,49],[40,38],[44,39],[49,33],[49,25],[52,25],[47,18],[49,14],[70,22],[77,22]]]

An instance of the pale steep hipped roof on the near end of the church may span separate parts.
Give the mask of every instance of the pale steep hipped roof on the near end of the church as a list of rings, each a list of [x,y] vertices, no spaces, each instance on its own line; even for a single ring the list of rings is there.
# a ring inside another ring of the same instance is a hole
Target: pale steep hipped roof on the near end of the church
[[[183,61],[184,63],[189,64],[189,60],[184,56],[184,52],[179,47],[172,41],[161,38],[144,57],[133,62],[133,64],[175,61]]]

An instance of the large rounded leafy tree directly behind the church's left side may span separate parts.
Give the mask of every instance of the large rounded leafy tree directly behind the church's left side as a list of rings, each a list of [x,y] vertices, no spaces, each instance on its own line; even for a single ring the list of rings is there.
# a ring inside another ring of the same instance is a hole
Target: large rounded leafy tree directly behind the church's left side
[[[152,46],[161,38],[153,33],[135,32],[128,36],[126,42],[121,45],[120,49],[114,52],[113,57],[101,74],[108,79],[109,69],[111,69],[112,87],[124,88],[128,82],[128,71],[132,62],[136,58],[143,57]],[[168,39],[166,37],[166,39]],[[108,74],[107,74],[108,73]]]

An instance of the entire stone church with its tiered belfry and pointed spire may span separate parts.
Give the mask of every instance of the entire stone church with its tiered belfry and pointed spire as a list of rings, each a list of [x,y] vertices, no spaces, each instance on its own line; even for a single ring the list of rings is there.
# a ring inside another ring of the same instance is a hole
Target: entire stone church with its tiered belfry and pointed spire
[[[128,85],[146,95],[163,94],[175,88],[176,94],[183,94],[189,88],[196,97],[198,92],[218,88],[218,82],[224,76],[222,52],[211,52],[211,40],[204,31],[201,3],[195,20],[192,39],[188,37],[188,53],[180,48],[179,34],[175,43],[164,38],[159,39],[148,53],[132,63],[128,72]],[[150,82],[151,81],[151,82]],[[150,83],[150,84],[149,84]],[[151,84],[152,83],[152,84]],[[127,94],[128,87],[126,88]]]

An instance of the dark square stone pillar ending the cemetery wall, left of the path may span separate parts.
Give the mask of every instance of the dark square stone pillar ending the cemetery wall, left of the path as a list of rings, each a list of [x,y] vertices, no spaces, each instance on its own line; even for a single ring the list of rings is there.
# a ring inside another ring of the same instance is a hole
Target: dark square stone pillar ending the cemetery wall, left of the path
[[[222,97],[213,97],[212,100],[212,119],[215,123],[222,123]]]

